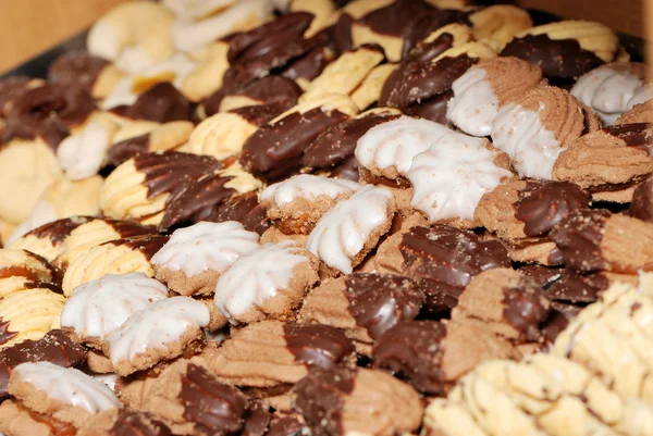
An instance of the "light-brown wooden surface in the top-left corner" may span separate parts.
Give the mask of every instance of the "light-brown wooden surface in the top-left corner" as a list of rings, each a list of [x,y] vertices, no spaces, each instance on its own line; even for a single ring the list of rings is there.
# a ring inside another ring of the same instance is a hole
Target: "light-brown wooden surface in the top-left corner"
[[[85,29],[128,0],[0,0],[0,72]]]

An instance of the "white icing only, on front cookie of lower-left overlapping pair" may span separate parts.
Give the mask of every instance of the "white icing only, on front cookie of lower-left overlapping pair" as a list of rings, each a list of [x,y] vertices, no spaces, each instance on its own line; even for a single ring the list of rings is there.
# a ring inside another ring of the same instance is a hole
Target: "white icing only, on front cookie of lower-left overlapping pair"
[[[206,327],[209,308],[190,297],[172,297],[134,313],[107,336],[113,364],[134,361],[151,349],[165,349],[192,328]]]

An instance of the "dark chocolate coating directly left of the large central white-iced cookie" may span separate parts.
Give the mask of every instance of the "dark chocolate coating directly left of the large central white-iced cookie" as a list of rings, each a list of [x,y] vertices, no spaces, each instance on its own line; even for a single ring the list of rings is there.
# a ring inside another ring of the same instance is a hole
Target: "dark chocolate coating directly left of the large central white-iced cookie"
[[[334,166],[354,155],[358,139],[367,130],[398,117],[399,115],[371,113],[329,127],[306,148],[301,165],[311,169]]]

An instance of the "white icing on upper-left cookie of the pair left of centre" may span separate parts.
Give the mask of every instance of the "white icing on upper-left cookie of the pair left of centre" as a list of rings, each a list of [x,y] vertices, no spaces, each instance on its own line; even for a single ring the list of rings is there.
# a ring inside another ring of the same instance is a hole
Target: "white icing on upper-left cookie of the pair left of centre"
[[[223,273],[244,254],[259,247],[259,235],[235,221],[200,222],[175,231],[152,257],[153,265],[182,271],[186,276],[205,271]]]

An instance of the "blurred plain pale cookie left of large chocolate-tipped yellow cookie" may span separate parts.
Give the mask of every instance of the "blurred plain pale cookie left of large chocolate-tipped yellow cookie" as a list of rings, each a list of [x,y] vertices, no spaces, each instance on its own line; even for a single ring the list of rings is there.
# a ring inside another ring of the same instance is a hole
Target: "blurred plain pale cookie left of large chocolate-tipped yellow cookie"
[[[29,217],[7,238],[7,244],[13,245],[28,232],[58,220],[97,215],[100,212],[100,189],[103,183],[99,175],[83,180],[62,178],[56,182],[40,196]]]

